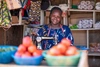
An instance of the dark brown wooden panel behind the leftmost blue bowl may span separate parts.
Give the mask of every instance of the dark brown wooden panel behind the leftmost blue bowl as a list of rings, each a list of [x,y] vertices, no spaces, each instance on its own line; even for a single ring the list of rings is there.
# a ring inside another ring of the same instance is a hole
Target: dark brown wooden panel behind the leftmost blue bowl
[[[6,31],[6,38],[4,37],[5,31],[0,28],[0,44],[19,45],[22,43],[23,25],[12,26]]]

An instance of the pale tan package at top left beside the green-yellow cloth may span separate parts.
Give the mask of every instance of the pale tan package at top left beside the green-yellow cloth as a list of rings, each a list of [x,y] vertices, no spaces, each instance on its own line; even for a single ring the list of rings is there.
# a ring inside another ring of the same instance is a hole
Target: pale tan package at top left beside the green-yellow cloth
[[[22,7],[19,0],[6,0],[6,3],[9,10],[19,9]]]

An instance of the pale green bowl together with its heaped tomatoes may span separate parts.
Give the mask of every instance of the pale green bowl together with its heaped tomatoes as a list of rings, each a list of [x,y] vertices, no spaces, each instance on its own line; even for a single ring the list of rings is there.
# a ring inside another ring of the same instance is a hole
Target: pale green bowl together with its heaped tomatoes
[[[64,38],[50,50],[43,51],[43,56],[49,66],[77,66],[81,52],[75,46],[71,46],[70,40]]]

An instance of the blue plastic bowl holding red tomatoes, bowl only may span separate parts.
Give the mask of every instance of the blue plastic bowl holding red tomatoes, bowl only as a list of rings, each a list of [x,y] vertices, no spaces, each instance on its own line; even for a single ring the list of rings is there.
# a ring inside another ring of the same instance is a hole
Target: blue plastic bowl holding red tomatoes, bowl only
[[[18,65],[40,65],[43,60],[42,55],[37,57],[18,57],[12,55],[12,57],[14,58],[15,63]]]

